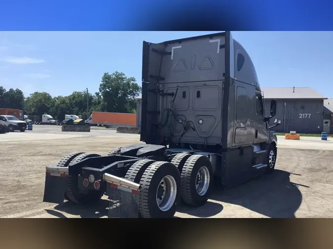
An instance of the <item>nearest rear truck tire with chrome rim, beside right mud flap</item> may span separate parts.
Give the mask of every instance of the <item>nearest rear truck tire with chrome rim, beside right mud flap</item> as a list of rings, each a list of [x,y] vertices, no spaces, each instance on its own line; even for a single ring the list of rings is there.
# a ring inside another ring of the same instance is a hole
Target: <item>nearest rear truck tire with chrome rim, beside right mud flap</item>
[[[172,218],[181,200],[180,173],[170,162],[154,162],[141,180],[139,211],[143,218]]]

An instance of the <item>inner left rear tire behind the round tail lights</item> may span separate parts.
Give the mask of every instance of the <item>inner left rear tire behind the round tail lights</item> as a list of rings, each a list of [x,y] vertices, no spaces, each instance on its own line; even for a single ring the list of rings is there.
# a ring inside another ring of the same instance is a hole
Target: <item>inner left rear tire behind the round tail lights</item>
[[[89,157],[96,157],[101,156],[98,154],[92,153],[83,153],[79,156],[76,156],[74,160],[70,163],[70,165],[82,161],[83,159]],[[77,186],[77,175],[68,176],[68,183],[65,190],[66,196],[70,201],[73,201],[77,204],[87,204],[99,201],[101,197],[104,195],[104,191],[95,191],[92,190],[89,193],[80,193],[78,186]]]

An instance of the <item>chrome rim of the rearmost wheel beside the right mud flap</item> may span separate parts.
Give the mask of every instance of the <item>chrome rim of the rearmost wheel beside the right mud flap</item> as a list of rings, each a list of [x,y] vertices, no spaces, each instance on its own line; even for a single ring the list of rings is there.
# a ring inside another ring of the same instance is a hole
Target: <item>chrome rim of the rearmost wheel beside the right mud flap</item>
[[[161,211],[168,211],[175,203],[177,183],[172,176],[165,176],[160,181],[156,191],[157,206]]]

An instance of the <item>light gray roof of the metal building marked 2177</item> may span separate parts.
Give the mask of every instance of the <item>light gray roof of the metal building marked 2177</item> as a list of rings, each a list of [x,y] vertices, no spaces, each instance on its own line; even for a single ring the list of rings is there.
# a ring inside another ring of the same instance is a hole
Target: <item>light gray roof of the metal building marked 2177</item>
[[[296,87],[295,89],[293,87],[261,88],[261,91],[266,99],[327,99],[327,97],[309,87]]]

